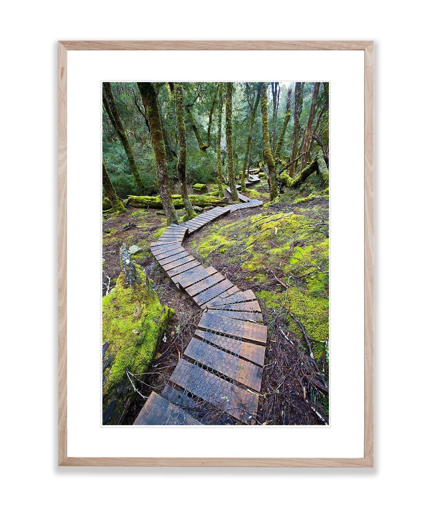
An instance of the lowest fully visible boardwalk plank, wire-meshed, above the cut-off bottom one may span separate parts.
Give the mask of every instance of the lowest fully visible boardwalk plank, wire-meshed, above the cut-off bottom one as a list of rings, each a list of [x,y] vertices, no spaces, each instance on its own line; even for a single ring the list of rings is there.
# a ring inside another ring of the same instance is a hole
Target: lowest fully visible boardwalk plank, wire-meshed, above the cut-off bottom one
[[[188,384],[191,372],[197,378],[198,386],[195,386],[195,381]],[[247,423],[249,416],[255,415],[258,411],[259,398],[257,395],[217,377],[208,370],[191,365],[184,359],[179,359],[170,381],[182,388],[188,387],[188,391],[194,395],[227,411],[232,417],[242,422]]]

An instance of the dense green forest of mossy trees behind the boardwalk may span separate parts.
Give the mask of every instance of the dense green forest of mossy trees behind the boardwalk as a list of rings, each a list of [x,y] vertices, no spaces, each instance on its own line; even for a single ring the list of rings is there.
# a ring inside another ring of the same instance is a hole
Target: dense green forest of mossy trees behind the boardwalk
[[[127,197],[161,202],[177,223],[179,206],[190,218],[198,203],[215,205],[210,195],[196,203],[198,188],[211,183],[212,195],[236,202],[236,184],[245,190],[248,171],[264,165],[271,200],[313,173],[329,191],[327,82],[106,82],[102,102],[103,188],[114,211]]]

